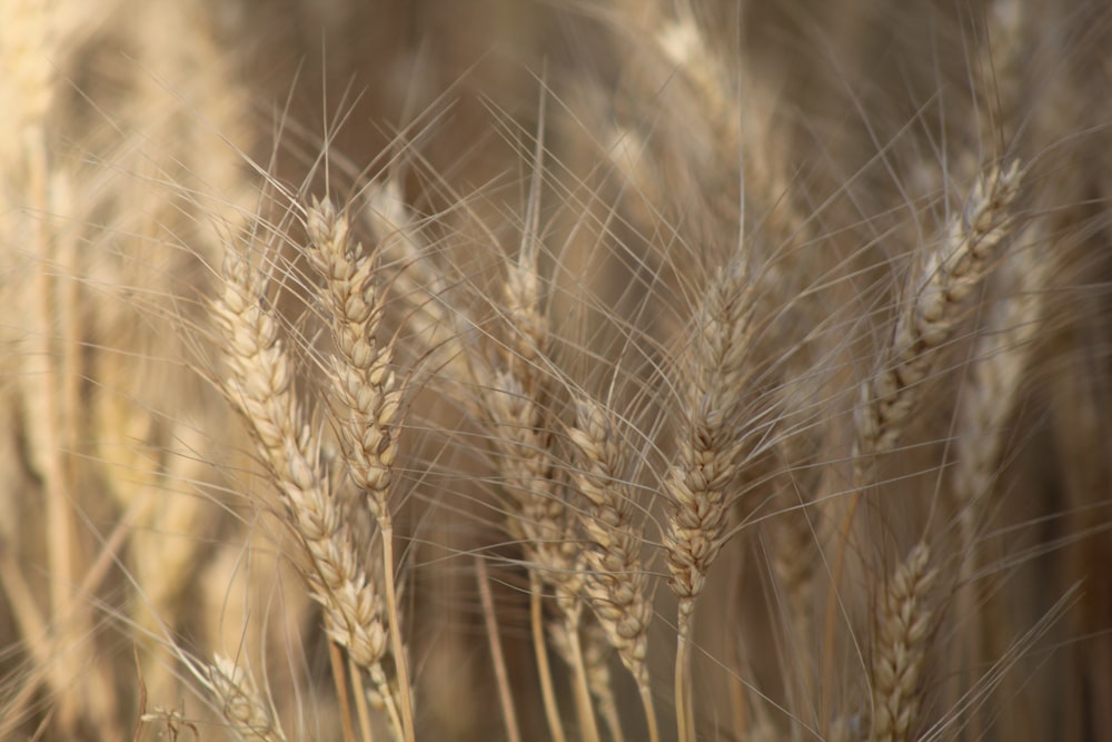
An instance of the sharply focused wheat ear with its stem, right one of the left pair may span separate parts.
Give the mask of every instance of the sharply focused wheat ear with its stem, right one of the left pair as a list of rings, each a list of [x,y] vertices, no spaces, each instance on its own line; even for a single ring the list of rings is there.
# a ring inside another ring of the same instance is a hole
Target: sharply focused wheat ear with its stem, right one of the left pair
[[[381,536],[383,583],[401,720],[406,740],[411,742],[413,699],[395,587],[389,503],[404,388],[390,368],[393,347],[375,337],[383,316],[383,295],[374,254],[350,241],[347,215],[337,214],[328,200],[315,200],[309,207],[306,229],[312,247],[307,251],[309,263],[325,279],[321,299],[337,349],[330,368],[331,388],[345,461],[353,479],[366,493]]]

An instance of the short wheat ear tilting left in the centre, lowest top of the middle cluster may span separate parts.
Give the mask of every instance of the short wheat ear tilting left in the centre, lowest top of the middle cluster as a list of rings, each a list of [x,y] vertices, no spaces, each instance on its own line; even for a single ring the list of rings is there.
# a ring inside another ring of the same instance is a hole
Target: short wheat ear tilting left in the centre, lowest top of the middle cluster
[[[643,536],[633,522],[633,493],[623,478],[622,442],[613,417],[580,398],[568,436],[575,447],[573,477],[588,506],[579,522],[590,540],[585,552],[585,591],[607,640],[634,676],[652,742],[659,739],[645,655],[653,606],[645,592],[648,574],[641,561]]]

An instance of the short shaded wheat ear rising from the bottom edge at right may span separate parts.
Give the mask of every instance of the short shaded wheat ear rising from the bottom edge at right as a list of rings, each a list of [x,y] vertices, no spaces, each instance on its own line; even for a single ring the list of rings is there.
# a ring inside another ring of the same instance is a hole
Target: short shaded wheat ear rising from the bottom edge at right
[[[939,576],[920,543],[885,586],[873,643],[873,729],[876,742],[905,742],[919,726],[923,663],[934,629],[931,591]]]

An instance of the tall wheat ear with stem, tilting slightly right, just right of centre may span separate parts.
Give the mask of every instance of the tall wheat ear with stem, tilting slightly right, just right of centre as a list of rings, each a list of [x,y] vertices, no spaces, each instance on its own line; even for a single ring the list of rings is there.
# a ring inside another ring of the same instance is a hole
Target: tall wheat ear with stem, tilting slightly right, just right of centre
[[[664,483],[672,502],[664,534],[668,584],[679,598],[675,703],[682,742],[695,734],[688,646],[695,600],[725,543],[728,488],[745,455],[739,431],[747,398],[752,299],[752,285],[738,259],[721,268],[708,287],[683,369],[687,387],[678,456]]]

